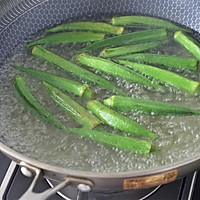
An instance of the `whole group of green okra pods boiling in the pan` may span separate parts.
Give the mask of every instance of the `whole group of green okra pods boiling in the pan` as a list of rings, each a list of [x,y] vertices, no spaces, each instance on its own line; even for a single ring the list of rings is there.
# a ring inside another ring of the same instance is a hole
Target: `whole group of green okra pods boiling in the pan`
[[[104,104],[100,103],[99,100],[90,100],[89,102],[83,100],[84,107],[83,102],[80,104],[75,100],[77,96],[87,99],[93,98],[91,87],[87,84],[45,71],[14,66],[20,72],[43,81],[45,88],[56,104],[78,124],[82,125],[82,128],[66,128],[34,97],[22,77],[15,77],[14,87],[21,101],[31,112],[66,133],[76,134],[110,147],[147,155],[153,145],[150,140],[157,139],[159,136],[118,111],[139,111],[149,115],[200,115],[200,112],[172,104],[127,97],[126,93],[100,75],[72,63],[40,45],[89,42],[86,47],[77,51],[82,53],[78,56],[80,64],[131,83],[144,85],[150,89],[165,91],[163,84],[169,84],[192,95],[199,93],[200,83],[198,81],[187,79],[171,71],[161,69],[159,66],[197,70],[200,60],[200,47],[193,38],[184,33],[192,32],[191,30],[163,19],[146,16],[122,16],[113,17],[111,23],[71,22],[62,24],[46,30],[47,35],[45,37],[27,45],[31,47],[32,55],[64,69],[67,73],[80,78],[81,81],[97,84],[117,93],[117,95],[121,95],[104,99]],[[126,26],[126,31],[124,31],[124,26]],[[153,29],[130,32],[129,27],[153,27]],[[171,32],[167,30],[171,30]],[[177,32],[174,34],[173,31]],[[168,43],[172,34],[174,40],[184,46],[196,59],[145,52]],[[99,56],[94,56],[97,55],[96,52],[93,55],[85,53],[90,51],[100,52]],[[112,57],[115,57],[115,59],[111,60]],[[144,64],[130,61],[138,61]],[[63,91],[72,93],[75,97],[72,98]],[[125,133],[133,134],[133,136],[106,133],[101,130],[102,123]],[[98,129],[98,127],[100,128]],[[148,140],[133,138],[134,136],[144,137]]]

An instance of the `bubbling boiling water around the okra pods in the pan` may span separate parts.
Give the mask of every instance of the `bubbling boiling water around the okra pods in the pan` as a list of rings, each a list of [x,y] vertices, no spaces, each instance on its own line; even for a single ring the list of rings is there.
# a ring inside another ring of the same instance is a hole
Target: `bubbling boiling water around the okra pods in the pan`
[[[76,50],[83,46],[70,44],[47,46],[47,48],[76,63]],[[170,42],[149,52],[192,57],[175,42]],[[51,165],[75,170],[122,172],[159,167],[200,153],[200,116],[126,114],[160,136],[159,139],[154,141],[154,144],[160,147],[160,151],[151,153],[149,156],[125,152],[62,132],[32,115],[19,102],[12,85],[12,79],[16,73],[21,73],[14,70],[12,68],[13,65],[40,69],[63,77],[70,77],[70,75],[58,67],[31,56],[23,45],[18,47],[12,58],[2,67],[0,80],[0,139],[12,149],[26,156]],[[187,78],[199,80],[198,73],[196,72],[182,70],[175,72]],[[172,103],[200,111],[200,97],[190,96],[172,88],[169,88],[165,93],[150,91],[148,88],[137,84],[130,84],[122,79],[98,72],[95,73],[110,80],[131,97]],[[80,127],[56,106],[41,82],[25,74],[21,75],[25,78],[39,101],[62,121],[66,127]],[[75,77],[73,79],[78,80]],[[95,92],[95,98],[100,101],[114,94],[98,86],[92,85],[92,88]],[[82,105],[86,103],[80,98],[76,98],[76,100]],[[126,135],[106,125],[105,131]]]

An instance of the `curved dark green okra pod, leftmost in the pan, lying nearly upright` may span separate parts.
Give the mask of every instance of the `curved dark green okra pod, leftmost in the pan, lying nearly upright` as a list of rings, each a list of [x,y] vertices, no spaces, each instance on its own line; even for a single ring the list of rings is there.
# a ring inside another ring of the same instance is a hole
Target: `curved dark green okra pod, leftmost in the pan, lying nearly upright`
[[[31,90],[21,76],[15,76],[14,87],[22,102],[31,110],[32,113],[40,116],[48,123],[51,123],[62,130],[66,130],[64,125],[33,96]]]

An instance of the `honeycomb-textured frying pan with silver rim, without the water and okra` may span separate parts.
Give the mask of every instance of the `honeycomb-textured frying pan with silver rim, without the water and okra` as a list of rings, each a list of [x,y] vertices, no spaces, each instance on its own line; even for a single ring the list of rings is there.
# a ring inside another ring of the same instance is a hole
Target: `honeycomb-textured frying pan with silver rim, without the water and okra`
[[[25,44],[32,35],[64,21],[141,14],[187,26],[196,31],[196,39],[199,38],[200,31],[200,2],[195,0],[1,0],[0,9],[0,78],[2,80],[6,77],[3,63],[13,54],[18,45]],[[32,186],[42,173],[60,182],[57,190],[69,184],[77,186],[79,183],[85,184],[94,191],[142,189],[174,181],[200,167],[200,153],[197,153],[168,165],[144,170],[123,172],[74,170],[45,163],[17,152],[6,143],[2,133],[0,136],[2,141],[0,150],[19,163],[23,169],[35,175]],[[37,199],[46,199],[53,192],[55,191],[38,195]],[[32,189],[29,188],[27,193],[33,195]],[[26,196],[21,199],[26,199]]]

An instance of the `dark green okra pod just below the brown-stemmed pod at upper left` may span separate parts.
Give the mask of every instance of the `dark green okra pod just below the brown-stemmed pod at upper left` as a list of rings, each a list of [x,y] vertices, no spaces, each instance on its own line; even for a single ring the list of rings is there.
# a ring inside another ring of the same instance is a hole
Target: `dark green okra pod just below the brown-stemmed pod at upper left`
[[[68,43],[85,43],[103,40],[105,34],[92,32],[63,32],[46,36],[42,39],[29,43],[27,46],[31,47],[38,44],[68,44]]]

